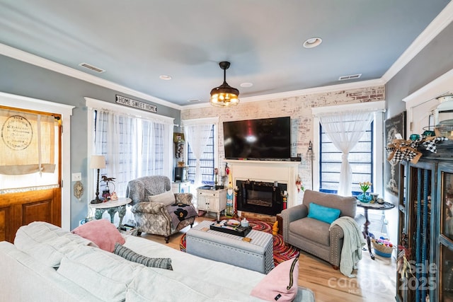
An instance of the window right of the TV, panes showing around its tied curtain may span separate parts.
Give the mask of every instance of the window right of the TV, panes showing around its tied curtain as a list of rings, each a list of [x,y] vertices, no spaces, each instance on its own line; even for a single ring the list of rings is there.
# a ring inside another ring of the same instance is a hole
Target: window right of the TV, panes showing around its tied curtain
[[[374,122],[370,124],[369,129],[349,153],[348,158],[352,170],[352,195],[361,193],[359,182],[374,180],[373,129]],[[319,124],[319,190],[321,192],[337,193],[341,156],[341,151],[333,146],[331,139]],[[373,191],[372,187],[370,192]]]

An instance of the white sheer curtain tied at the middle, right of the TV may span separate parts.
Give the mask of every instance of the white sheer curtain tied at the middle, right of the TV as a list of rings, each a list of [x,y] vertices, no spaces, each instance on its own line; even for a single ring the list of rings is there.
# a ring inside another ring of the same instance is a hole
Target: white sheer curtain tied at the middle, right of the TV
[[[319,121],[326,134],[342,155],[338,194],[351,196],[352,172],[348,161],[349,152],[373,120],[373,112],[345,112],[342,114],[319,115]]]

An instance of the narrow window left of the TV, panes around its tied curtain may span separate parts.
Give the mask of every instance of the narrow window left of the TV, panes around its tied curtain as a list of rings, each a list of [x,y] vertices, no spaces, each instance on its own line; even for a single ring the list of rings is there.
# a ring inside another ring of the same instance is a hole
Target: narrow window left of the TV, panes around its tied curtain
[[[202,151],[200,160],[200,170],[202,173],[202,184],[203,185],[214,185],[214,168],[215,168],[215,148],[214,148],[214,124],[212,124],[210,130],[210,137],[208,139],[207,146]],[[196,160],[190,144],[188,144],[188,180],[190,183],[195,182],[195,165]]]

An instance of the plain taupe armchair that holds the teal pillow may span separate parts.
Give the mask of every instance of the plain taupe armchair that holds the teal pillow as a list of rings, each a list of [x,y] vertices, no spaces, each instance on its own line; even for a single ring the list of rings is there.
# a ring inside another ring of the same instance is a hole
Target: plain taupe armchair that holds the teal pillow
[[[339,269],[343,248],[343,229],[336,224],[330,228],[330,223],[307,217],[311,203],[339,209],[340,216],[352,217],[360,228],[365,223],[365,217],[361,214],[356,216],[357,199],[355,197],[342,197],[311,190],[305,190],[302,204],[282,211],[285,243],[326,260],[334,269]]]

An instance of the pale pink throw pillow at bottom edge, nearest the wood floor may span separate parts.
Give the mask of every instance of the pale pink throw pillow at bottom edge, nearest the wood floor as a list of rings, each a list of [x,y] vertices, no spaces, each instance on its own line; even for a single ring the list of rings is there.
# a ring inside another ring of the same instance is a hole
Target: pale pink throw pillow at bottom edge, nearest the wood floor
[[[256,284],[251,296],[266,301],[293,301],[297,295],[297,279],[299,278],[299,257],[277,265]]]

